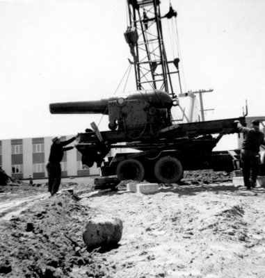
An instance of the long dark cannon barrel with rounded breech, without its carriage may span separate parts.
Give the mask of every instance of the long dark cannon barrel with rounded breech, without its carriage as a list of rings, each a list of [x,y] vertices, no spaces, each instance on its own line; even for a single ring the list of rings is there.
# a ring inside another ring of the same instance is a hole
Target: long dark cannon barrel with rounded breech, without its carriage
[[[156,108],[171,108],[173,100],[166,92],[161,90],[141,90],[130,92],[128,95],[110,97],[93,101],[58,102],[49,105],[51,114],[105,114],[108,115],[109,101],[145,100]]]

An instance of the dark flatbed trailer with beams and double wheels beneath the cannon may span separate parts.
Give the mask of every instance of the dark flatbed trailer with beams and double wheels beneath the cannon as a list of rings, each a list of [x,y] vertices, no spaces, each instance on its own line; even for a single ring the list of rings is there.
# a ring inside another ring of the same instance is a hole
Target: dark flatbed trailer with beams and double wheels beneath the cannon
[[[77,149],[85,165],[97,163],[102,176],[117,175],[118,179],[174,183],[182,179],[184,170],[210,169],[214,163],[212,149],[223,135],[236,133],[235,120],[244,117],[178,124],[162,129],[157,136],[144,133],[140,141],[127,137],[125,131],[103,131],[100,140],[95,132],[81,133]],[[127,131],[129,132],[129,131]],[[215,136],[215,137],[214,137]],[[116,145],[126,142],[124,145]],[[138,152],[122,152],[104,157],[112,148],[130,148]],[[230,159],[230,161],[232,161]],[[228,165],[227,170],[232,168]]]

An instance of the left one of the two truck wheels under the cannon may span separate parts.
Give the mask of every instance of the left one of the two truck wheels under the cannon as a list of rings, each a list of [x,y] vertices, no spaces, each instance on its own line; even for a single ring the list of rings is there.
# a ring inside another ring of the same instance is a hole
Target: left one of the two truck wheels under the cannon
[[[145,177],[145,169],[140,161],[131,158],[125,161],[120,161],[117,166],[116,174],[120,181],[129,179],[143,181],[143,177]]]

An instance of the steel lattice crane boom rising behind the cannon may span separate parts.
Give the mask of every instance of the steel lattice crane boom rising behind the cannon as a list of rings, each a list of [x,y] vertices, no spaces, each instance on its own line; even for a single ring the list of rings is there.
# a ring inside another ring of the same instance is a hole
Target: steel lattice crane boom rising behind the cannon
[[[181,92],[179,79],[179,57],[168,60],[163,38],[163,20],[177,17],[170,6],[169,12],[161,16],[159,0],[128,0],[129,26],[125,39],[134,56],[137,90],[159,89],[176,99]],[[177,74],[179,89],[173,79]],[[173,77],[174,76],[174,77]],[[177,91],[179,90],[179,92]]]

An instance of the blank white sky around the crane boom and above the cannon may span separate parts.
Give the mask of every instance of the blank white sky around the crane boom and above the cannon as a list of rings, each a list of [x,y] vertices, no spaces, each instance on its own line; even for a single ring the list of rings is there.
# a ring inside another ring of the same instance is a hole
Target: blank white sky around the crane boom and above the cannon
[[[265,115],[265,1],[162,2],[178,13],[183,90],[214,90],[207,120],[240,117],[246,100],[249,116]],[[115,94],[131,58],[126,0],[0,0],[0,26],[0,140],[106,130],[101,115],[51,115],[49,104]]]

